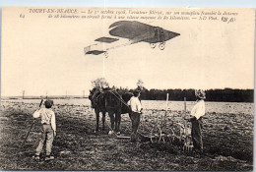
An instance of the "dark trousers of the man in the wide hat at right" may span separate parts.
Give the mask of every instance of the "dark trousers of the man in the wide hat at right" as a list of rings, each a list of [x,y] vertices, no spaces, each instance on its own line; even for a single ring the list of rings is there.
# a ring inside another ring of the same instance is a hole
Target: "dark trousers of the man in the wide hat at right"
[[[202,119],[197,119],[196,117],[191,119],[192,130],[191,137],[193,141],[194,148],[203,150],[203,139],[202,139]]]

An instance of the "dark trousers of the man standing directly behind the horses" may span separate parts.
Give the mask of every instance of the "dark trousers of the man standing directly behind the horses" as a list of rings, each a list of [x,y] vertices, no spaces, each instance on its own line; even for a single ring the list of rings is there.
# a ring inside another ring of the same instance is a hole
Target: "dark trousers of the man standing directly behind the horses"
[[[138,129],[140,125],[141,114],[138,112],[130,112],[129,116],[132,121],[131,141],[136,142],[138,141]]]

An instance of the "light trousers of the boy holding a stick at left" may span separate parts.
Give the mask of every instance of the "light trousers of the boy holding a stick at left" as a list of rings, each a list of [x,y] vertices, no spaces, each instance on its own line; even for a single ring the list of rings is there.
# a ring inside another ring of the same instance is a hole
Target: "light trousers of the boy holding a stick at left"
[[[50,155],[53,139],[54,139],[54,136],[53,136],[53,130],[51,128],[51,125],[49,124],[42,125],[41,140],[38,146],[36,147],[35,154],[39,155],[42,151],[42,147],[44,143],[46,143],[46,155]]]

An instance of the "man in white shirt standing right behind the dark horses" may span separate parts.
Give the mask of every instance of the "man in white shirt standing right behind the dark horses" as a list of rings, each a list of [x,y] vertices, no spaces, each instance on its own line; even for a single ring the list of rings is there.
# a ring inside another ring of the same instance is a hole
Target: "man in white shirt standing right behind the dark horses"
[[[141,119],[141,111],[142,111],[142,105],[141,101],[139,100],[140,91],[135,90],[134,96],[131,97],[131,99],[128,101],[128,106],[130,106],[131,112],[129,113],[129,116],[132,121],[132,134],[131,134],[131,141],[136,142],[138,141],[138,129],[140,125],[140,119]]]

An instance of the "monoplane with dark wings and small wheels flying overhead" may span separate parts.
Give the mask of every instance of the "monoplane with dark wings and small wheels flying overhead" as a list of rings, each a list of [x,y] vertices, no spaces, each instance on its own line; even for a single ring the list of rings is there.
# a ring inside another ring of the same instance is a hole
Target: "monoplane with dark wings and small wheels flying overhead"
[[[159,43],[160,50],[165,47],[165,42],[178,35],[177,32],[154,27],[136,21],[119,21],[109,26],[110,36],[97,38],[97,43],[85,47],[85,54],[104,54],[107,58],[107,51],[121,46],[131,45],[138,42],[150,43],[155,48]],[[125,40],[121,40],[121,39]]]

